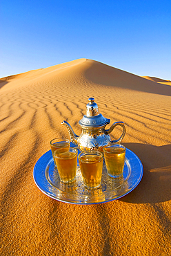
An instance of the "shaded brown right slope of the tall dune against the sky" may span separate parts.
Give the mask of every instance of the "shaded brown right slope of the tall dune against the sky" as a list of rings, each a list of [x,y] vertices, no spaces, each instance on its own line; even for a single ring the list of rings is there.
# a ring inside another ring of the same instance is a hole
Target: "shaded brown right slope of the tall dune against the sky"
[[[95,84],[171,96],[171,86],[167,84],[158,84],[101,62],[92,62],[85,74],[86,78]]]

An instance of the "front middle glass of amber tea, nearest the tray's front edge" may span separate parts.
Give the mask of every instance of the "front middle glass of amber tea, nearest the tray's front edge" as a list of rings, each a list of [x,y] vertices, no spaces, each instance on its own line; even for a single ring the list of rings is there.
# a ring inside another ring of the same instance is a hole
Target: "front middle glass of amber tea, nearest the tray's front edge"
[[[85,187],[89,190],[99,188],[103,168],[103,154],[101,152],[81,152],[79,166]]]

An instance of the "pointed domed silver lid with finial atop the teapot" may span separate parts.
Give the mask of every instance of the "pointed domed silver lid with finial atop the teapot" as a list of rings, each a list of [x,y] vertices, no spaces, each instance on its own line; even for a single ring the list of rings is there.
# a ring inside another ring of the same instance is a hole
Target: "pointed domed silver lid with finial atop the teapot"
[[[110,119],[104,118],[99,113],[97,103],[94,102],[94,98],[89,98],[89,103],[86,106],[86,115],[79,120],[79,125],[83,127],[99,127],[110,123]]]

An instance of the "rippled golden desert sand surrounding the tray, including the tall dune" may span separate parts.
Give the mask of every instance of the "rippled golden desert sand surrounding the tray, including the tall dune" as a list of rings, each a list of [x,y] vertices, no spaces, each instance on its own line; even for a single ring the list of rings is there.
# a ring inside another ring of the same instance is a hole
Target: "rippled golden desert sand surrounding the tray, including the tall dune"
[[[171,86],[87,59],[0,81],[0,255],[171,255]],[[125,123],[144,174],[121,199],[72,205],[43,194],[32,172],[52,138],[69,138],[63,120],[81,133],[90,97]]]

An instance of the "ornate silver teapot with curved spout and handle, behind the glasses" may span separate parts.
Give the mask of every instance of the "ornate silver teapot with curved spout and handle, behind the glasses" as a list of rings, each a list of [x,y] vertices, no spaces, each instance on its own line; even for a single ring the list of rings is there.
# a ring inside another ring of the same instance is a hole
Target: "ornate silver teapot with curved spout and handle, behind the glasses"
[[[103,152],[104,145],[121,142],[125,136],[125,125],[123,122],[114,122],[110,129],[105,129],[105,126],[110,123],[110,119],[103,117],[102,114],[99,113],[99,108],[97,103],[94,102],[94,98],[89,98],[88,100],[86,115],[79,120],[79,125],[82,128],[80,136],[74,133],[68,122],[63,121],[61,124],[67,127],[70,140],[74,145],[77,145],[81,151],[91,152],[98,150]],[[109,134],[117,125],[123,128],[121,137],[118,140],[111,140]]]

